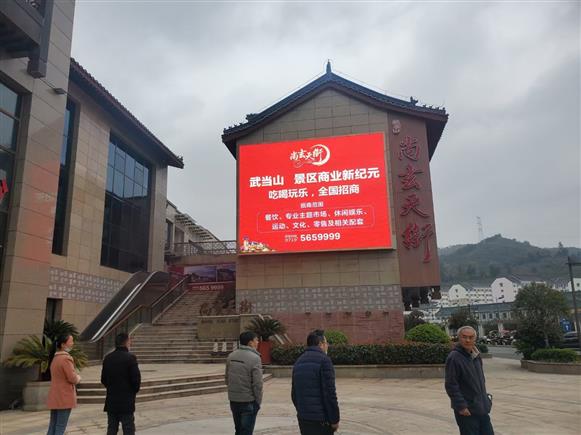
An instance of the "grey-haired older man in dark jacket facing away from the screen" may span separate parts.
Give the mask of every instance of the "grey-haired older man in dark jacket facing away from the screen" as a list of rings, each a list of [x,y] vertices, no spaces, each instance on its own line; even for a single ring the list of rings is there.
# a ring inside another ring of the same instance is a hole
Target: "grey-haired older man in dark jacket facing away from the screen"
[[[486,392],[476,331],[471,326],[458,329],[458,344],[446,359],[445,388],[460,435],[494,435],[489,415],[492,396]]]

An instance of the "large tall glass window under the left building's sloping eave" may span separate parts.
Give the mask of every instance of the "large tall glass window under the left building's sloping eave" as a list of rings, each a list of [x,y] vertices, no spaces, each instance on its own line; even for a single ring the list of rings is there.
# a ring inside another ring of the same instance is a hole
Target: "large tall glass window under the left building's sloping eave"
[[[150,200],[143,188],[146,163],[111,137],[101,264],[127,272],[147,270]]]

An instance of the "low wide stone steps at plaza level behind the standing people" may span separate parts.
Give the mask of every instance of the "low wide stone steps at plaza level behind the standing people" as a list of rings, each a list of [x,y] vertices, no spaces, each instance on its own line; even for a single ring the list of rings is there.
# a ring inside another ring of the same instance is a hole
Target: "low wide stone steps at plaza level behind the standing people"
[[[264,382],[272,375],[264,375]],[[202,394],[221,393],[227,391],[224,375],[199,375],[141,382],[141,389],[135,398],[136,402],[174,399],[177,397],[199,396]],[[105,388],[98,382],[82,382],[77,386],[77,402],[103,404],[105,403]]]

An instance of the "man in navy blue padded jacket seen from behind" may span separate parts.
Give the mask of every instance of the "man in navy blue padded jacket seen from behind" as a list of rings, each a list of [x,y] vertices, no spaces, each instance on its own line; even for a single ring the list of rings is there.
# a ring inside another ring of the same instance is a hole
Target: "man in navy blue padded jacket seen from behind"
[[[332,434],[339,428],[339,404],[324,331],[311,332],[307,346],[293,367],[291,397],[299,428],[301,435]]]

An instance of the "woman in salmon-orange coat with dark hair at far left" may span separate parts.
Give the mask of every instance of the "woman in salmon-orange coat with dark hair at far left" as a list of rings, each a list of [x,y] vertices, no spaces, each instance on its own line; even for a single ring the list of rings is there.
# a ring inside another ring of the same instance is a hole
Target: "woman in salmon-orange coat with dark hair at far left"
[[[73,357],[69,355],[73,344],[72,335],[57,337],[53,344],[54,354],[50,363],[50,389],[47,400],[47,408],[50,409],[47,435],[63,435],[71,410],[77,406],[75,385],[81,382],[81,377],[75,371]]]

